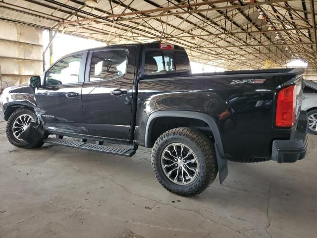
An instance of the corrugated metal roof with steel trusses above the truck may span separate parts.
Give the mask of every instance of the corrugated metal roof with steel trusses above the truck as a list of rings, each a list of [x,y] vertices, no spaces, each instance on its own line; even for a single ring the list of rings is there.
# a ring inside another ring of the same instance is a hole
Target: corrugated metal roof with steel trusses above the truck
[[[317,70],[314,0],[85,2],[3,0],[0,17],[51,29],[60,25],[59,31],[107,44],[166,40],[185,47],[191,60],[227,69],[285,67],[303,59]]]

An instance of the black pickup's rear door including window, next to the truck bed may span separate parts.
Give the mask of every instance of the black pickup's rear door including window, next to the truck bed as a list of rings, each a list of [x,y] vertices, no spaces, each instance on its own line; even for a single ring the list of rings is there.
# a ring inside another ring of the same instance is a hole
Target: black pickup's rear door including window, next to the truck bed
[[[128,141],[137,47],[91,51],[82,103],[91,136]]]

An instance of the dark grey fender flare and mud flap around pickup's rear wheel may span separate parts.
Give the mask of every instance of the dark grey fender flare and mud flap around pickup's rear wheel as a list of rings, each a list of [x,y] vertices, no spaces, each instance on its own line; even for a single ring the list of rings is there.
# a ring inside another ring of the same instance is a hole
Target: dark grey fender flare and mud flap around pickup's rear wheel
[[[164,110],[164,111],[157,111],[154,112],[150,115],[147,125],[146,125],[146,130],[145,130],[145,147],[149,148],[149,143],[150,143],[150,138],[151,135],[149,134],[149,131],[152,129],[153,121],[157,118],[160,117],[178,117],[178,118],[192,118],[192,119],[199,119],[202,121],[205,121],[211,128],[211,131],[214,136],[214,150],[216,153],[216,159],[217,159],[217,164],[218,164],[218,171],[219,171],[219,181],[220,184],[224,181],[224,179],[228,175],[228,162],[225,157],[223,147],[222,147],[222,142],[221,142],[221,137],[219,133],[218,126],[215,122],[215,120],[204,113],[199,113],[199,112],[192,112],[192,111],[172,111],[172,110]]]

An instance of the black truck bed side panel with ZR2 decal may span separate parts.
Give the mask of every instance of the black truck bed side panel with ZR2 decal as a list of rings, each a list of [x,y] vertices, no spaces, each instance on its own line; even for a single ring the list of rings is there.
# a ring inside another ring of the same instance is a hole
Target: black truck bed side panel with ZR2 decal
[[[272,140],[289,139],[291,133],[291,129],[273,126],[275,91],[295,76],[262,73],[142,80],[138,85],[135,140],[144,144],[147,119],[155,111],[195,111],[216,121],[227,155],[270,157]],[[232,84],[241,79],[265,80]]]

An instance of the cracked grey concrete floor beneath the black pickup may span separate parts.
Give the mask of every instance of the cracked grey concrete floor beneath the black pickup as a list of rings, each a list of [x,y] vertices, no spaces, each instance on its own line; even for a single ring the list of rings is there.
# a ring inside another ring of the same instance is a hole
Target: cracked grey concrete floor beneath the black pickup
[[[9,144],[0,122],[0,238],[317,237],[317,136],[294,164],[229,162],[201,195],[163,189],[150,153],[132,158]]]

